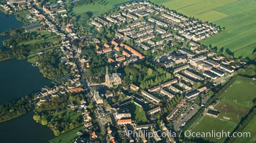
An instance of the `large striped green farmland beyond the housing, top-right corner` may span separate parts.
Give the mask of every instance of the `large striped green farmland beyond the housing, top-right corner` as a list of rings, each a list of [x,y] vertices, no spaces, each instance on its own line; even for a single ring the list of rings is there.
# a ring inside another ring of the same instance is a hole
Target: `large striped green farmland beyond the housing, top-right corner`
[[[256,49],[255,0],[151,0],[187,16],[225,27],[202,44],[228,48],[234,56],[253,57]]]

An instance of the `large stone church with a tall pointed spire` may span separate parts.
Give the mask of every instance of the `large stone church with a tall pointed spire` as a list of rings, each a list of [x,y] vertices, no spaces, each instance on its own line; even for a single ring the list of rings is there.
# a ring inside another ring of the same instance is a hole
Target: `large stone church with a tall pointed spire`
[[[122,84],[122,79],[119,74],[113,73],[109,74],[108,66],[106,66],[106,75],[105,75],[105,85],[106,87],[114,87],[119,84]]]

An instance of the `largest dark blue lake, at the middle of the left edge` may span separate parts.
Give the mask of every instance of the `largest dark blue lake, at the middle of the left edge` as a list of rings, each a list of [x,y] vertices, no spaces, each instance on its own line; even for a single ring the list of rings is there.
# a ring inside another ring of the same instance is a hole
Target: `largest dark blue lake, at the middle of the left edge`
[[[42,77],[38,67],[32,66],[26,60],[0,62],[0,104],[37,92],[51,83]]]

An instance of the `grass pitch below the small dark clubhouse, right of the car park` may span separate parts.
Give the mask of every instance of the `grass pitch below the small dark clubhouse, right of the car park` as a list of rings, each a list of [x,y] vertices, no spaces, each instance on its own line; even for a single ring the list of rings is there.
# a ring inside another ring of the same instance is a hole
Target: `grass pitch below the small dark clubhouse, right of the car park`
[[[237,124],[232,122],[227,122],[218,118],[205,116],[195,128],[192,129],[192,132],[232,132]],[[224,142],[225,138],[217,139],[217,137],[206,137],[204,138],[211,142]]]

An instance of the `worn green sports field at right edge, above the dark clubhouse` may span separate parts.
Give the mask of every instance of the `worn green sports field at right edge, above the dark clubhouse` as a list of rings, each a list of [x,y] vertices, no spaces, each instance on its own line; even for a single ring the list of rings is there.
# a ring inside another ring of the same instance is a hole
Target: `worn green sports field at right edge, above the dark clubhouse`
[[[256,81],[247,77],[237,80],[221,94],[222,101],[217,105],[219,118],[229,117],[229,121],[239,123],[240,119],[249,112],[252,100],[256,97]]]

